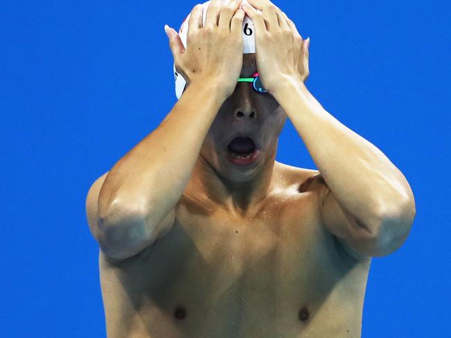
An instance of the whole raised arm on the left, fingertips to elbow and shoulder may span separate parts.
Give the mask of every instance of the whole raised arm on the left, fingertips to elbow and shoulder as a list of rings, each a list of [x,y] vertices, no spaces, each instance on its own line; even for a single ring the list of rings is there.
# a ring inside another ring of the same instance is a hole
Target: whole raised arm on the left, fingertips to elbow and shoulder
[[[99,180],[90,189],[87,211],[96,215],[88,219],[107,256],[135,256],[173,224],[174,208],[205,136],[237,85],[243,60],[240,3],[212,1],[205,26],[203,8],[195,6],[185,23],[190,41],[186,50],[176,31],[165,27],[176,69],[188,86],[164,121],[114,164],[103,183]]]

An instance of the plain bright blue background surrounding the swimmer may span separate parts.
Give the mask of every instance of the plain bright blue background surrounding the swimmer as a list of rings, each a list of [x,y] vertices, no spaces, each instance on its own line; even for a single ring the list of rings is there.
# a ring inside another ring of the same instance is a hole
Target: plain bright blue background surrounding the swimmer
[[[195,4],[1,2],[3,337],[105,337],[85,197],[176,102],[163,26]],[[407,242],[373,258],[362,337],[450,337],[450,1],[275,4],[311,39],[309,90],[416,197]],[[316,168],[289,121],[277,159]]]

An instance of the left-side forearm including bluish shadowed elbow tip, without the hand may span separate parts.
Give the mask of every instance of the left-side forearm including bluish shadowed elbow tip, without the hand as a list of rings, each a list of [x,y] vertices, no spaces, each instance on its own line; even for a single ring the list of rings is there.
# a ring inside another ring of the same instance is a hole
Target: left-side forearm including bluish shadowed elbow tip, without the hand
[[[134,256],[155,240],[164,217],[171,214],[167,221],[173,222],[222,103],[221,91],[190,84],[164,121],[108,172],[97,211],[99,244],[108,256]]]

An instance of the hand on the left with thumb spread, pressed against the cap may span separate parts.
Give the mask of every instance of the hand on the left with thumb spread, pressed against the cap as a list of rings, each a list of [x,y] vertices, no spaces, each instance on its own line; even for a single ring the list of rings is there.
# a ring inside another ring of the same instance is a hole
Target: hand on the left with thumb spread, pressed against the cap
[[[241,26],[244,11],[240,5],[241,0],[212,0],[207,8],[205,26],[202,23],[203,7],[200,4],[194,6],[188,21],[186,50],[176,30],[166,30],[174,64],[187,84],[201,82],[207,85],[219,81],[227,96],[235,90],[243,64]]]

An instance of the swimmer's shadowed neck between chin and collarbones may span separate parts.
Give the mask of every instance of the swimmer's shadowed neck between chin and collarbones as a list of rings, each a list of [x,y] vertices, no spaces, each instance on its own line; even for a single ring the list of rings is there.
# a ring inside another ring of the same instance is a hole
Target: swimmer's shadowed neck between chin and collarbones
[[[277,149],[277,147],[276,147]],[[228,213],[244,217],[253,215],[255,207],[271,191],[271,177],[275,166],[275,150],[262,169],[247,181],[232,181],[220,175],[199,154],[187,191],[189,195],[205,196]]]

